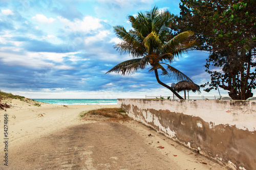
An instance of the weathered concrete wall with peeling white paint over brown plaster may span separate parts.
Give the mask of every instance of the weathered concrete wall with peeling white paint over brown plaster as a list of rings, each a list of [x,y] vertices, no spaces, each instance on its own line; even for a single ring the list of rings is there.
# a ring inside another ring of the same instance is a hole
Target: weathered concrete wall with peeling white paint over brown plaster
[[[231,169],[256,169],[256,102],[118,99],[135,120]]]

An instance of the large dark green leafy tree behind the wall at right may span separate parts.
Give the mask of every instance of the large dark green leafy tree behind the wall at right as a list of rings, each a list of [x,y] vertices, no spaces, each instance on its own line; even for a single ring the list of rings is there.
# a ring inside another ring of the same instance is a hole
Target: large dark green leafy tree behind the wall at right
[[[255,89],[256,21],[254,0],[181,0],[178,32],[191,30],[209,51],[205,71],[211,81],[205,91],[221,87],[233,100],[246,100]]]

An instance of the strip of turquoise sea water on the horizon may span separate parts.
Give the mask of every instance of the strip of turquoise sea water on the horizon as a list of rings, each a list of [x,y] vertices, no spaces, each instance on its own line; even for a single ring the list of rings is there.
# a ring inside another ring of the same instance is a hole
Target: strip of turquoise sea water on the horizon
[[[33,99],[56,105],[116,105],[117,99]]]

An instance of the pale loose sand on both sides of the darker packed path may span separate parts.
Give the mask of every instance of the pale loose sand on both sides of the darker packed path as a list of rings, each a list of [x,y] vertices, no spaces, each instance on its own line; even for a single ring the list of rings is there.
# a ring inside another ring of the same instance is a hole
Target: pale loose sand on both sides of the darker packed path
[[[4,114],[8,114],[9,149],[22,147],[26,143],[37,141],[39,138],[50,134],[56,134],[69,127],[101,121],[82,119],[79,117],[79,113],[82,111],[117,107],[116,105],[62,106],[45,103],[39,103],[40,107],[38,107],[35,106],[34,103],[26,103],[19,100],[8,100],[6,102],[13,107],[7,109],[7,111],[0,110],[0,127],[2,131],[1,134],[3,134]],[[175,169],[225,169],[218,163],[212,162],[200,154],[191,152],[189,149],[179,145],[173,140],[158,134],[134,120],[120,122],[119,124],[124,125],[140,135],[143,138],[144,145],[152,147],[154,150],[158,150],[158,152],[164,155],[166,159],[175,162],[178,166],[178,168]],[[4,140],[3,135],[1,135],[1,138]],[[157,148],[159,146],[162,146],[163,148]],[[4,142],[1,142],[1,157],[3,157],[4,148]]]

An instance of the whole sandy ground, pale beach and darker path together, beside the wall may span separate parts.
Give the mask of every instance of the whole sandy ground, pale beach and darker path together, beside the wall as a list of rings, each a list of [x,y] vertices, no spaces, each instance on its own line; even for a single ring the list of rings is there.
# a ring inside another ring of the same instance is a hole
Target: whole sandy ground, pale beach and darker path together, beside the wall
[[[9,169],[225,169],[135,121],[96,122],[78,116],[116,105],[12,105],[18,107],[0,111],[2,129],[3,114],[9,115]],[[1,157],[3,148],[1,142]],[[2,163],[0,169],[8,168]]]

